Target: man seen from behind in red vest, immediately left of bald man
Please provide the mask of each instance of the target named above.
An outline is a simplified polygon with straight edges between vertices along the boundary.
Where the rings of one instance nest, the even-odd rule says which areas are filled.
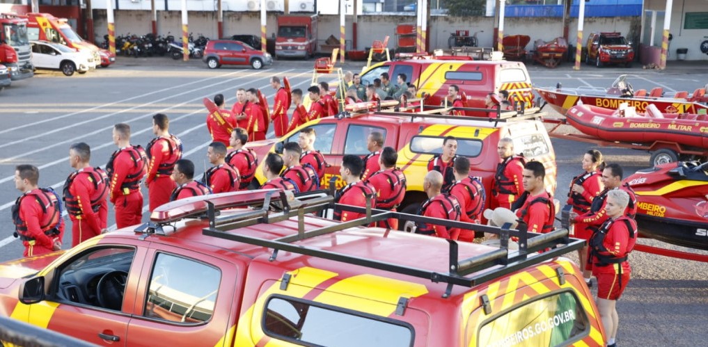
[[[392,147],[384,147],[379,155],[382,170],[370,175],[369,182],[376,189],[376,208],[395,212],[406,195],[406,175],[396,168],[398,153]],[[376,224],[379,228],[398,229],[398,218],[389,218]]]

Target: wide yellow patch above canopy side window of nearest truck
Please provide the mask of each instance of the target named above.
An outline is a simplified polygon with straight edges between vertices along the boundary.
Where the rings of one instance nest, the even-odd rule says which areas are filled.
[[[428,288],[420,283],[365,274],[334,283],[314,301],[388,317],[396,311],[399,298],[416,298],[427,293]]]

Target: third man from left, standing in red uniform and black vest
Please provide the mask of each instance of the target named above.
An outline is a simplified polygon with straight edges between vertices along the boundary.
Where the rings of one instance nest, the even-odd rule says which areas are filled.
[[[119,149],[110,156],[105,171],[110,180],[108,200],[113,204],[115,225],[120,229],[142,221],[140,180],[147,172],[147,155],[142,147],[130,145],[128,124],[113,126],[113,143]]]

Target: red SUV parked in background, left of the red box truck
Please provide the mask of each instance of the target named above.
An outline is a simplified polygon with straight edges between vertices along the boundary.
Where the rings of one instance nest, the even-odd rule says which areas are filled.
[[[251,65],[258,70],[264,65],[273,64],[273,57],[241,41],[211,40],[207,42],[202,61],[207,63],[209,69],[222,65]]]

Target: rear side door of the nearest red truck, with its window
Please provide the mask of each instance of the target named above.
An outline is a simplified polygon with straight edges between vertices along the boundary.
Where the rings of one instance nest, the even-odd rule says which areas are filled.
[[[181,247],[159,245],[145,257],[130,346],[217,346],[239,305],[236,264]]]

